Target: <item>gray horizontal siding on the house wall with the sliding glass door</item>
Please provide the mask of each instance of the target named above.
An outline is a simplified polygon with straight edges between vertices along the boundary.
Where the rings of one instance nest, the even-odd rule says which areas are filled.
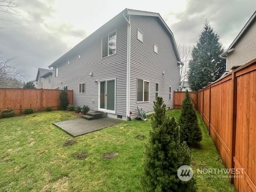
[[[92,44],[80,50],[80,59],[75,54],[70,58],[70,64],[67,61],[59,64],[59,76],[54,77],[53,88],[68,86],[68,90],[73,90],[75,105],[88,105],[91,110],[98,110],[98,83],[95,81],[116,78],[116,114],[126,115],[127,24],[116,25],[116,54],[101,58],[102,36],[95,37]],[[106,34],[115,29],[106,31]],[[79,94],[78,86],[83,82],[86,83],[86,93]]]

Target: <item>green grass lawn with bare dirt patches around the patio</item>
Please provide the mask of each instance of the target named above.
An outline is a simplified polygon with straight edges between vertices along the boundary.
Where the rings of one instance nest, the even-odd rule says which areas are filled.
[[[180,110],[168,110],[179,117]],[[74,119],[66,111],[52,111],[0,119],[0,191],[141,191],[140,174],[144,143],[150,122],[123,122],[110,128],[74,138],[52,122]],[[224,168],[200,116],[203,132],[200,149],[192,149],[192,168]],[[146,140],[138,140],[142,134]],[[87,151],[79,160],[74,152]],[[105,152],[119,152],[103,160]],[[198,191],[234,191],[228,178],[197,178]]]

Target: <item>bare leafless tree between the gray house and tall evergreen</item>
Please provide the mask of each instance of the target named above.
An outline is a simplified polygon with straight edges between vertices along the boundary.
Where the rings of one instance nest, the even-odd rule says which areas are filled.
[[[180,60],[183,63],[180,65],[180,87],[182,88],[188,76],[188,62],[190,60],[192,46],[178,43],[177,47],[180,54]]]

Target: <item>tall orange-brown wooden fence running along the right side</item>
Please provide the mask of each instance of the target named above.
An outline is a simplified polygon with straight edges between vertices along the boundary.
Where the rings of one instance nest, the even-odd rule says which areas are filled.
[[[225,166],[243,169],[236,190],[256,192],[256,59],[200,90],[197,105]]]

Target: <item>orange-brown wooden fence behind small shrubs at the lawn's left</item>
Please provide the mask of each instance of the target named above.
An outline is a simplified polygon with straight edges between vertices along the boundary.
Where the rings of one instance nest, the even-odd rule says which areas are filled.
[[[52,89],[10,89],[0,88],[0,112],[13,109],[14,113],[22,113],[26,108],[43,111],[46,107],[58,109],[61,90]],[[73,90],[67,90],[70,104],[73,103]]]

